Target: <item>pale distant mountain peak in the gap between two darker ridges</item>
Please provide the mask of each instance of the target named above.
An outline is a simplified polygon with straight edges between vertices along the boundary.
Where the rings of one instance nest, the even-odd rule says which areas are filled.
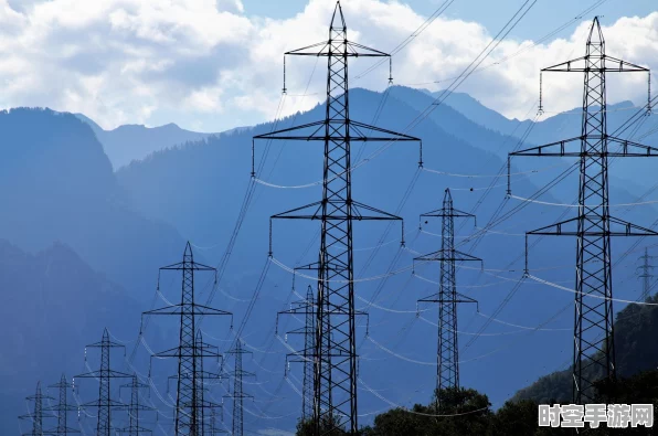
[[[82,114],[76,116],[92,127],[115,169],[132,160],[144,159],[153,151],[198,141],[213,135],[181,129],[173,123],[159,127],[123,125],[113,130],[104,130],[91,118]]]

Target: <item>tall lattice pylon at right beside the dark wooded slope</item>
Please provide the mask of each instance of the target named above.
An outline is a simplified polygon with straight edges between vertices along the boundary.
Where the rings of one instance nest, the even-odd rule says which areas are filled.
[[[608,208],[608,159],[656,157],[658,149],[608,136],[606,73],[648,73],[648,70],[605,54],[601,24],[598,18],[595,18],[587,38],[585,56],[543,68],[542,72],[584,73],[581,136],[512,152],[509,156],[580,159],[577,216],[528,232],[527,236],[576,236],[573,401],[584,404],[594,400],[594,384],[597,381],[611,381],[616,377],[611,236],[658,234],[611,216]],[[618,149],[613,151],[611,146],[618,146]],[[526,269],[528,270],[528,267]]]

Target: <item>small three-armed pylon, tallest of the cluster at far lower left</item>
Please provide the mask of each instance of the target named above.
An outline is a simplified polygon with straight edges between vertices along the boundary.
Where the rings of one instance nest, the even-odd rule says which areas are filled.
[[[85,364],[87,361],[87,348],[100,349],[100,369],[98,371],[87,372],[85,374],[76,375],[75,379],[96,379],[98,380],[98,398],[93,402],[83,404],[82,407],[96,407],[98,410],[98,421],[96,423],[97,436],[112,435],[112,411],[125,410],[126,404],[112,400],[110,397],[110,381],[112,379],[129,379],[131,375],[124,372],[115,371],[109,365],[110,350],[113,348],[125,347],[120,343],[110,341],[107,328],[103,330],[103,338],[100,342],[92,343],[85,348]]]

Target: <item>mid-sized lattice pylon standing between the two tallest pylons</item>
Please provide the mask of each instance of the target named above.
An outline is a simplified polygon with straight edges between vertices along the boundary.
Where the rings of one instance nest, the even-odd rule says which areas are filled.
[[[441,217],[441,249],[414,258],[415,262],[441,262],[438,293],[420,299],[418,302],[438,304],[438,347],[436,351],[436,408],[442,406],[442,390],[459,387],[459,350],[457,348],[457,304],[476,302],[473,298],[457,293],[456,262],[481,262],[480,258],[455,249],[455,219],[473,217],[453,206],[450,190],[446,189],[443,208],[427,212],[422,217]]]

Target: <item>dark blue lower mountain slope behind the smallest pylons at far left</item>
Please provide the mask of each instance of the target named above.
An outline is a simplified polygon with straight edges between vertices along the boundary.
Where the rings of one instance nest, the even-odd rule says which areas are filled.
[[[134,339],[141,307],[63,243],[29,254],[0,240],[0,328],[4,332],[0,336],[0,433],[14,435],[18,415],[26,413],[24,397],[34,394],[36,382],[41,381],[45,394],[45,387],[59,382],[62,373],[71,382],[74,375],[88,372],[85,345],[99,341],[106,327],[115,342],[117,338]],[[96,351],[88,351],[93,369],[97,369]],[[113,369],[126,371],[120,350],[113,352]],[[76,384],[83,402],[98,393],[93,379],[79,379]],[[57,395],[54,390],[49,393]],[[74,415],[70,418],[73,425]],[[49,419],[46,428],[54,424]],[[21,426],[28,432],[30,423]]]

